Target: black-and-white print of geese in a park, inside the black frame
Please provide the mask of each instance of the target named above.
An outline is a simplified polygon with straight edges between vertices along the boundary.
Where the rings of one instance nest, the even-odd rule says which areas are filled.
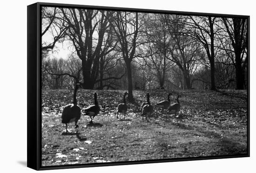
[[[246,157],[249,16],[41,6],[41,166]]]

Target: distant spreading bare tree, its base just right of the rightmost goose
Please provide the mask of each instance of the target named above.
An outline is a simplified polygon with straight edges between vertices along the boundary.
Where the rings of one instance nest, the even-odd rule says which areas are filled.
[[[202,59],[202,47],[193,39],[189,38],[186,29],[186,18],[179,15],[167,16],[168,32],[172,38],[170,44],[171,57],[182,71],[184,85],[186,89],[192,88],[191,77],[200,65]]]

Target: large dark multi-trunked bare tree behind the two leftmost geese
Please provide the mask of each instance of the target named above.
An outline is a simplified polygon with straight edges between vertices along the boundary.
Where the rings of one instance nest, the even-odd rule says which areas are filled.
[[[63,20],[69,25],[67,38],[73,43],[77,56],[81,59],[84,89],[93,89],[100,68],[102,45],[108,28],[111,12],[61,8]],[[112,77],[115,78],[115,77]],[[110,79],[108,77],[108,79]],[[104,79],[104,80],[108,80]]]

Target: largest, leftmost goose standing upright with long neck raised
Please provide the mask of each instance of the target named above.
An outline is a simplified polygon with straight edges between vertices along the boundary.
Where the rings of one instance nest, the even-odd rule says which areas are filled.
[[[66,105],[62,111],[61,122],[65,123],[66,125],[66,133],[68,132],[67,123],[74,122],[75,128],[78,128],[77,122],[81,117],[81,108],[77,105],[76,93],[77,93],[77,90],[81,88],[82,86],[80,83],[77,83],[75,85],[73,103]]]

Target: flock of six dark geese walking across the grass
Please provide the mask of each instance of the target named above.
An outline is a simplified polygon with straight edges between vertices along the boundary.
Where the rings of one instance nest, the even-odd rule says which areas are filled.
[[[81,108],[77,105],[77,100],[76,100],[76,93],[77,90],[82,89],[81,84],[77,83],[74,88],[74,98],[73,98],[73,103],[68,104],[64,107],[61,115],[62,123],[65,123],[66,125],[66,133],[68,132],[67,130],[67,124],[70,122],[75,123],[75,128],[78,128],[77,122],[81,118]],[[162,101],[159,102],[155,105],[156,108],[165,110],[167,109],[168,112],[176,114],[180,111],[181,105],[179,102],[179,97],[180,95],[177,96],[176,102],[171,104],[170,96],[172,94],[168,94],[168,100],[167,101]],[[128,110],[128,106],[126,103],[126,96],[128,96],[128,93],[125,92],[123,96],[123,103],[119,103],[117,106],[117,116],[116,118],[119,119],[118,114],[122,113],[125,119],[125,115]],[[141,104],[141,116],[142,120],[144,120],[144,117],[146,118],[147,122],[149,122],[149,117],[153,114],[154,112],[154,107],[150,103],[150,97],[149,93],[147,93],[147,102],[144,102]],[[90,105],[86,109],[83,109],[84,114],[83,115],[88,115],[91,119],[90,123],[93,123],[93,119],[96,115],[100,113],[100,106],[97,101],[97,93],[94,92],[94,105]]]

